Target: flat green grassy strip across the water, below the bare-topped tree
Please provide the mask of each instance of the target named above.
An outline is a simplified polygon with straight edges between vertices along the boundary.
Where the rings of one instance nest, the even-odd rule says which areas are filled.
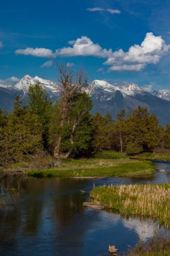
[[[28,171],[34,177],[114,177],[140,176],[154,173],[149,161],[130,160],[128,158],[90,158],[87,160],[63,160],[63,166],[57,168]]]

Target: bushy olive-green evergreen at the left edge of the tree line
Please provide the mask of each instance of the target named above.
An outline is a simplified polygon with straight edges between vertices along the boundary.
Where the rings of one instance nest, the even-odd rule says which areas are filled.
[[[21,103],[19,96],[16,96],[7,125],[0,127],[0,165],[18,159],[24,152],[42,150],[42,125],[38,116],[22,108]]]

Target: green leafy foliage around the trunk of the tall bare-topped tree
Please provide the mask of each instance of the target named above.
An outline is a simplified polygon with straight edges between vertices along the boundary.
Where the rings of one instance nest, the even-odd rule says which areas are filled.
[[[90,96],[86,93],[79,93],[72,98],[71,107],[67,110],[62,125],[61,105],[61,102],[56,102],[52,108],[49,137],[52,151],[56,146],[56,141],[60,138],[60,154],[64,152],[70,152],[72,156],[87,154],[92,138],[89,112],[93,104]]]

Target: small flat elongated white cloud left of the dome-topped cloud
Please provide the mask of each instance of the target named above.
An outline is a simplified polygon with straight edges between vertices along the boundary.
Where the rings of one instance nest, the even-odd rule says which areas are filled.
[[[35,57],[44,57],[44,58],[55,58],[55,54],[53,54],[52,50],[46,48],[27,48],[27,49],[18,49],[15,51],[15,54],[24,54],[24,55],[32,55]]]

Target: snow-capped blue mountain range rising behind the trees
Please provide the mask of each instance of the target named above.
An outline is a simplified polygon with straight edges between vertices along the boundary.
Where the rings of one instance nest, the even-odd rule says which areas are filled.
[[[13,85],[0,84],[0,108],[11,113],[13,110],[13,101],[16,95],[21,97],[24,102],[30,84],[40,84],[47,91],[47,95],[55,102],[60,98],[60,86],[51,80],[41,79],[36,76],[24,76],[19,82]],[[132,108],[147,107],[149,113],[157,115],[160,124],[163,126],[170,123],[170,93],[159,93],[154,91],[149,93],[143,90],[137,84],[127,84],[115,87],[103,80],[94,80],[87,84],[84,90],[90,94],[94,107],[92,113],[100,112],[106,115],[106,112],[116,115],[121,108],[126,108],[127,113]]]

